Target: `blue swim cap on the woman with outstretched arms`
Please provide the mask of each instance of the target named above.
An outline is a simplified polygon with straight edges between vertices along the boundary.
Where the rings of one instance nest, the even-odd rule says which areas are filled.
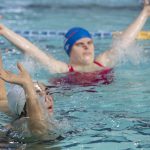
[[[64,40],[64,49],[68,55],[70,55],[71,48],[75,44],[76,41],[78,41],[81,38],[92,38],[91,34],[83,28],[80,27],[74,27],[71,28],[66,34],[65,34],[65,40]]]

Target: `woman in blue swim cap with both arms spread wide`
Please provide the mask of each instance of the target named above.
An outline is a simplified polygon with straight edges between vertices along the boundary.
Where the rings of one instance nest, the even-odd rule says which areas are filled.
[[[98,56],[94,56],[94,43],[91,34],[83,28],[71,28],[65,35],[64,49],[69,56],[69,63],[56,60],[33,45],[24,37],[0,25],[0,34],[17,46],[23,53],[36,58],[50,72],[95,72],[113,68],[117,64],[117,50],[127,49],[136,39],[150,16],[150,0],[144,0],[144,7],[135,21],[122,32],[119,42]]]

